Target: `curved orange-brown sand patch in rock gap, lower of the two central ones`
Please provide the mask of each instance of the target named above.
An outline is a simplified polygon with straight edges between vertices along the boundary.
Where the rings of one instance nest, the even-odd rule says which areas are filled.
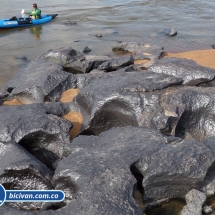
[[[68,114],[64,115],[63,118],[69,120],[74,125],[70,131],[70,136],[72,138],[78,136],[81,132],[83,116],[78,112],[70,111]]]

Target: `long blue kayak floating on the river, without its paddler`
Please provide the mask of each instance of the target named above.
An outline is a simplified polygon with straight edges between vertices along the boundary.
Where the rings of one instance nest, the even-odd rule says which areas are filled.
[[[24,27],[32,25],[40,25],[53,20],[58,14],[42,15],[41,19],[31,19],[31,18],[17,18],[14,19],[0,19],[0,28],[15,28]]]

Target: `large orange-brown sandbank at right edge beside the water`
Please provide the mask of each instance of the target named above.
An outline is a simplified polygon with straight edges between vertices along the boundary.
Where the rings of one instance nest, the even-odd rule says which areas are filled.
[[[195,50],[181,53],[166,52],[163,54],[163,57],[186,58],[189,60],[194,60],[197,64],[201,66],[206,66],[215,69],[215,49]]]

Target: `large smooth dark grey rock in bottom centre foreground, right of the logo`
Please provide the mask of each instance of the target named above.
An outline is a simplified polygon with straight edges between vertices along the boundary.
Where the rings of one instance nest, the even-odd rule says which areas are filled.
[[[75,138],[54,175],[55,186],[71,202],[55,214],[142,214],[132,196],[136,179],[130,169],[142,153],[163,145],[159,132],[141,127]]]

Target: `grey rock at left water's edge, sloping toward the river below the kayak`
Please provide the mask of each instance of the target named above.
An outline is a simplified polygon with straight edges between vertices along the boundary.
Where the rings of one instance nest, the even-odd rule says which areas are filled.
[[[60,65],[39,60],[17,72],[4,89],[10,93],[10,99],[30,104],[58,101],[63,91],[76,87],[75,82],[75,77],[63,71]]]

